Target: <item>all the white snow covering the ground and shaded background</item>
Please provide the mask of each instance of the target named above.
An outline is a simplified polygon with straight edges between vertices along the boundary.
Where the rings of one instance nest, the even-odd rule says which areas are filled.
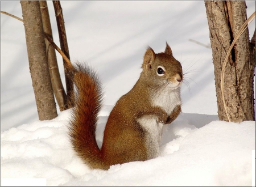
[[[246,5],[249,17],[255,1]],[[158,53],[167,41],[182,63],[187,73],[187,85],[181,87],[183,113],[164,126],[158,158],[113,165],[108,171],[89,169],[69,142],[70,110],[38,120],[23,23],[1,15],[2,185],[39,179],[36,185],[251,186],[254,181],[255,186],[255,121],[218,121],[211,50],[191,42],[210,43],[203,1],[61,1],[61,6],[71,59],[89,63],[104,85],[99,146],[113,105],[139,77],[148,45]],[[48,8],[59,45],[51,2]],[[1,1],[1,10],[22,18],[18,1]],[[254,29],[255,23],[249,25],[250,35]]]

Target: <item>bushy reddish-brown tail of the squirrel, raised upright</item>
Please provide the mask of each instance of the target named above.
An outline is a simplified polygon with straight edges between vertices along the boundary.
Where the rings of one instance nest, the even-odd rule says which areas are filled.
[[[102,161],[95,135],[102,103],[100,80],[92,69],[78,62],[69,66],[68,71],[75,88],[72,97],[75,106],[69,124],[72,146],[90,168],[108,168]]]

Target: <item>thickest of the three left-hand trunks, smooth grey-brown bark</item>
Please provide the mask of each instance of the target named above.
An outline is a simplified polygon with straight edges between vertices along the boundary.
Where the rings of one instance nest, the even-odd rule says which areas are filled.
[[[57,117],[57,110],[46,57],[39,1],[20,1],[20,4],[39,120],[51,120]]]

